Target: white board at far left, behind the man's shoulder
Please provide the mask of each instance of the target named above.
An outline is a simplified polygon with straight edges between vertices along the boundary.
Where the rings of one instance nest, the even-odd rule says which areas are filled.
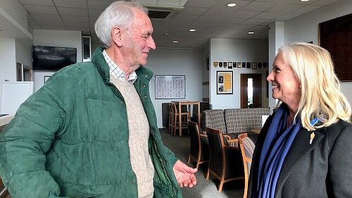
[[[3,82],[1,95],[1,114],[15,114],[22,104],[33,93],[33,82]]]

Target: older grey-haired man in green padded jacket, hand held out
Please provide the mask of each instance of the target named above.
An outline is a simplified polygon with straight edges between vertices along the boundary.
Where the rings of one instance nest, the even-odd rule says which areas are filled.
[[[149,97],[156,49],[146,8],[116,1],[95,24],[105,49],[55,73],[0,136],[12,197],[182,197],[194,173],[161,140]]]

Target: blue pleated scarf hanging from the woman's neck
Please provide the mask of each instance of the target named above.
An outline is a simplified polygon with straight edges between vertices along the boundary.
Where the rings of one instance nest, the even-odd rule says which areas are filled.
[[[294,137],[302,128],[301,120],[286,128],[288,115],[289,109],[282,104],[272,118],[268,135],[265,137],[263,149],[260,153],[258,182],[256,196],[254,197],[274,197],[275,195],[282,163],[294,141]]]

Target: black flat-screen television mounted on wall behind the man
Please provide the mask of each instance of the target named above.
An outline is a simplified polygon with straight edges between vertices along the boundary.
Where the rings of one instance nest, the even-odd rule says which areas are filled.
[[[60,70],[77,62],[77,49],[33,46],[33,70]]]

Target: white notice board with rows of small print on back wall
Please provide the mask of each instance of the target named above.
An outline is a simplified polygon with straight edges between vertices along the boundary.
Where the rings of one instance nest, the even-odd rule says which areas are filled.
[[[185,75],[155,75],[155,99],[185,98]]]

